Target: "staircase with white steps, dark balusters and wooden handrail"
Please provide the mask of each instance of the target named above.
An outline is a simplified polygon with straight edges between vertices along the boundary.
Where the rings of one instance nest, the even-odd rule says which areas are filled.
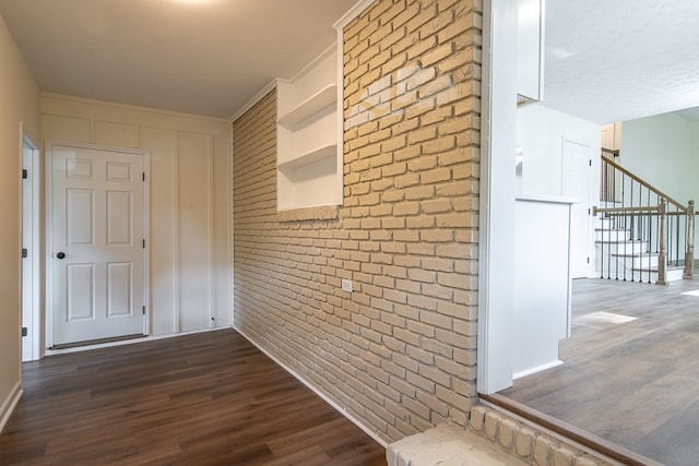
[[[667,265],[694,275],[695,203],[685,206],[616,162],[618,151],[603,150],[601,277],[667,283]],[[606,223],[605,223],[606,220]],[[655,262],[655,264],[653,264]]]

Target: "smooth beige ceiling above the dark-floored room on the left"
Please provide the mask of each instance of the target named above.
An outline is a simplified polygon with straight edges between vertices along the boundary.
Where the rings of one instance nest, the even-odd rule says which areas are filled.
[[[39,87],[228,118],[336,39],[356,0],[0,0]]]

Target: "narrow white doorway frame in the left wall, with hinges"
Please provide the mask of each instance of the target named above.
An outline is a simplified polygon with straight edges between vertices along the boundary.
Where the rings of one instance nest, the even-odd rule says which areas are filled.
[[[28,250],[28,255],[22,259],[22,323],[27,323],[27,336],[31,338],[28,351],[24,350],[23,342],[22,361],[34,361],[40,359],[42,354],[42,249],[40,249],[40,152],[34,141],[24,133],[22,128],[22,168],[27,170],[27,178],[22,183],[28,184],[32,193],[31,199],[25,200],[22,195],[22,248]],[[25,157],[24,150],[31,151]],[[22,187],[24,191],[24,186]],[[29,241],[24,241],[25,229],[29,228]],[[28,267],[28,274],[24,268]],[[26,283],[28,280],[28,283]],[[28,291],[29,296],[25,295]]]

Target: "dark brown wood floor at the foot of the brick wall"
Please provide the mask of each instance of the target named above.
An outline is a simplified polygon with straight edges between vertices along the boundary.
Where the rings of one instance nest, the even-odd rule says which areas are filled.
[[[233,330],[24,366],[0,465],[386,465],[381,445]]]

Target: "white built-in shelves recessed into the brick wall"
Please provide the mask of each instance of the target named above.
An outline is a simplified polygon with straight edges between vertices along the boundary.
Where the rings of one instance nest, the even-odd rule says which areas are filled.
[[[337,49],[276,82],[279,211],[342,204]]]

